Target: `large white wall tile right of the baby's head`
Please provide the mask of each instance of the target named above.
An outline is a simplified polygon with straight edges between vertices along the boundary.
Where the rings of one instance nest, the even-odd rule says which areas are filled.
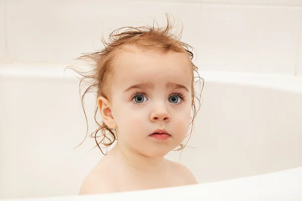
[[[302,10],[204,5],[203,70],[294,74]]]

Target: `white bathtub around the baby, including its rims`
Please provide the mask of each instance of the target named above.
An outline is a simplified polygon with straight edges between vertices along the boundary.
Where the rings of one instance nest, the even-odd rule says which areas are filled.
[[[63,73],[64,67],[0,65],[0,199],[86,200],[77,196],[82,179],[102,153],[97,148],[88,153],[95,146],[91,138],[72,149],[84,139],[86,122],[79,80],[71,71]],[[202,184],[155,191],[173,191],[178,197],[203,191],[199,198],[208,200],[248,192],[302,199],[297,188],[302,189],[302,78],[202,71],[200,75],[205,79],[203,104],[189,142],[195,148],[185,148],[181,162]],[[94,104],[88,96],[91,124]],[[178,152],[167,158],[179,162]]]

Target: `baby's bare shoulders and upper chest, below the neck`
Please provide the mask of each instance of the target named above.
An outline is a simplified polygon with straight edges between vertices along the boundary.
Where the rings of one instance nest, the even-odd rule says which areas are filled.
[[[118,145],[117,145],[118,146]],[[154,168],[129,161],[115,146],[84,179],[80,194],[100,194],[197,184],[185,166],[159,159]],[[133,163],[132,163],[133,162]]]

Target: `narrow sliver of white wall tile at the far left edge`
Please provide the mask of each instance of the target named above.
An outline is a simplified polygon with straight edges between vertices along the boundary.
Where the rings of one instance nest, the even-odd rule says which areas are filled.
[[[0,0],[0,62],[5,61],[6,59],[4,1],[5,0]]]

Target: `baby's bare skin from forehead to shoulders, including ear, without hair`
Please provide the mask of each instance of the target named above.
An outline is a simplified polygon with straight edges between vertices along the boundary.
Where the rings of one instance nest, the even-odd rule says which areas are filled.
[[[185,166],[164,158],[185,139],[192,107],[188,55],[128,47],[114,60],[112,98],[98,97],[118,141],[83,181],[80,194],[196,184]],[[151,137],[164,129],[170,137]]]

